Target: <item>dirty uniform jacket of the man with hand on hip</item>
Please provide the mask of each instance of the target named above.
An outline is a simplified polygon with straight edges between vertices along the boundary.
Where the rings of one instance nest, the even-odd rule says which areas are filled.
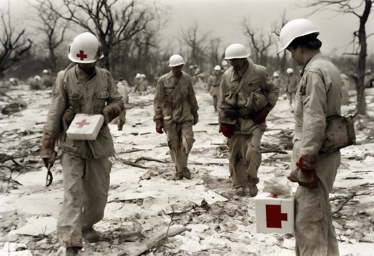
[[[237,94],[237,107],[236,110],[246,109],[246,103],[251,92],[263,92],[266,97],[267,103],[272,107],[275,106],[279,97],[279,88],[276,86],[272,79],[267,76],[266,68],[261,65],[256,65],[250,58],[247,58],[248,67],[243,70],[242,78],[239,82],[238,72],[235,73],[232,67],[225,71],[220,85],[220,103],[221,106],[226,104],[227,96],[230,92],[234,92],[236,88],[243,83],[242,88]],[[240,72],[241,73],[241,72]],[[270,111],[271,109],[269,109]],[[255,124],[251,118],[240,117],[237,119],[236,124],[232,128],[233,134],[250,134],[251,131],[259,127],[261,130],[266,130],[266,121],[261,124]]]

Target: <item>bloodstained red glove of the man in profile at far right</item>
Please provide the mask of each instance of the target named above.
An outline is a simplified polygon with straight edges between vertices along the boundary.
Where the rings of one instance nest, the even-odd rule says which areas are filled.
[[[316,161],[317,156],[314,155],[303,155],[296,163],[297,170],[291,172],[288,177],[292,182],[299,183],[300,186],[308,186],[316,188]]]

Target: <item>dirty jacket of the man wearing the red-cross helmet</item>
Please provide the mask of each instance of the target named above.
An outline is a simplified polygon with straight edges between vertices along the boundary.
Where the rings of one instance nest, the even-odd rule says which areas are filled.
[[[78,64],[58,73],[52,91],[52,100],[44,126],[44,133],[56,138],[59,134],[58,147],[62,152],[85,159],[99,159],[114,155],[113,139],[108,125],[104,125],[95,140],[71,140],[62,129],[62,115],[68,108],[76,114],[101,114],[106,105],[116,107],[119,113],[125,108],[122,95],[117,91],[116,83],[104,68],[95,66],[95,76],[89,80]],[[48,157],[42,150],[42,158]]]

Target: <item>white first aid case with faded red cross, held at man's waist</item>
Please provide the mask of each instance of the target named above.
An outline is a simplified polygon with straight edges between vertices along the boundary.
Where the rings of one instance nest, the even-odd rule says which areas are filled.
[[[66,134],[71,140],[95,140],[102,124],[102,115],[76,114]]]

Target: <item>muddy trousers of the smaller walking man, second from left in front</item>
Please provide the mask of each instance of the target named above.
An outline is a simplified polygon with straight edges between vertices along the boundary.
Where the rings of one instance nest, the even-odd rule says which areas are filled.
[[[166,130],[166,135],[171,159],[177,167],[177,173],[181,173],[187,167],[188,154],[195,139],[191,122],[175,125],[173,128]]]

